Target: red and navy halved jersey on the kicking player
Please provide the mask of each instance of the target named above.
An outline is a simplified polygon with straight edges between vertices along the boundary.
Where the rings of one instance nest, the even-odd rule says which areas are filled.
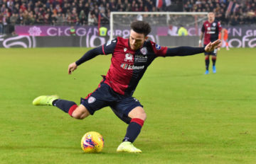
[[[112,54],[112,59],[105,83],[121,95],[132,95],[147,67],[156,57],[165,57],[167,49],[150,40],[136,51],[129,47],[129,39],[117,37],[107,42],[102,52]]]

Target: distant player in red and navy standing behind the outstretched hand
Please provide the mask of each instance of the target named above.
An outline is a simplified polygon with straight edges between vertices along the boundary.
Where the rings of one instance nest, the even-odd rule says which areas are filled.
[[[218,40],[218,35],[221,33],[221,25],[220,22],[215,20],[215,14],[213,12],[208,13],[208,21],[205,21],[203,23],[203,27],[201,28],[201,35],[199,39],[199,47],[202,46],[202,40],[203,40],[203,46],[206,47],[209,42],[214,42],[215,40]],[[204,35],[204,39],[203,39]],[[223,38],[223,33],[222,37]],[[217,49],[214,49],[213,52],[205,52],[205,61],[206,61],[206,74],[209,74],[209,64],[210,59],[209,55],[212,55],[212,61],[213,61],[213,73],[216,73],[216,59],[217,59]]]

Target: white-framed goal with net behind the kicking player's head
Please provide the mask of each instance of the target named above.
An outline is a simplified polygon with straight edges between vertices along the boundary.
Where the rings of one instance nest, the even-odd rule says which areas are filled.
[[[151,25],[149,39],[158,44],[160,44],[160,37],[175,36],[176,38],[183,35],[197,36],[198,44],[198,35],[206,20],[206,12],[111,12],[110,40],[118,36],[128,38],[130,24],[133,21],[146,21]],[[187,34],[178,33],[181,27],[186,28]]]

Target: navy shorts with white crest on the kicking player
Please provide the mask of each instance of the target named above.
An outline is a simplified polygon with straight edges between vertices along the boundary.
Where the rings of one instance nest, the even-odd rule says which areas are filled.
[[[87,108],[90,115],[93,115],[95,111],[103,107],[110,106],[114,114],[127,124],[131,121],[131,118],[128,117],[129,112],[134,107],[143,107],[139,100],[132,96],[124,96],[114,92],[104,81],[85,99],[81,98],[81,104]]]

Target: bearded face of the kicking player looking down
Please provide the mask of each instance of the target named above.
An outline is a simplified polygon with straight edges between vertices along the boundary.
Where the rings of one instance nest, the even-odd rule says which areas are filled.
[[[141,48],[147,37],[144,34],[136,33],[134,30],[131,30],[129,36],[129,44],[132,50],[137,50]]]

